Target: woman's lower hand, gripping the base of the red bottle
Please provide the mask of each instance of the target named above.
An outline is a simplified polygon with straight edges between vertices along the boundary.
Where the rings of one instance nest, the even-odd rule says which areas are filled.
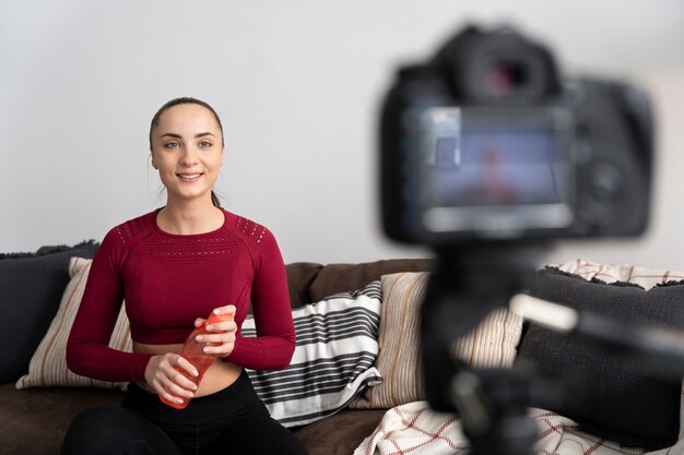
[[[154,392],[173,403],[182,403],[179,397],[192,398],[197,385],[186,378],[180,371],[187,371],[188,375],[199,374],[197,369],[187,359],[178,354],[167,352],[153,356],[145,368],[145,381]]]

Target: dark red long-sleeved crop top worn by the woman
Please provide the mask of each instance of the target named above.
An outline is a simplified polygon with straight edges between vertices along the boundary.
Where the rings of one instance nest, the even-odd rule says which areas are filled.
[[[102,381],[144,381],[152,357],[107,346],[121,301],[134,342],[184,343],[197,318],[235,304],[237,338],[225,358],[252,370],[285,368],[295,347],[287,278],[278,243],[263,226],[223,211],[212,232],[162,231],[157,211],[123,223],[103,240],[67,347],[76,374]],[[256,338],[240,336],[249,312]]]

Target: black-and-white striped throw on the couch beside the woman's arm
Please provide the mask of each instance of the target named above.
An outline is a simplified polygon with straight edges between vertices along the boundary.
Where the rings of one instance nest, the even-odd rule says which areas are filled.
[[[271,417],[285,427],[311,423],[382,380],[374,367],[381,301],[376,280],[293,311],[297,344],[290,366],[247,370]],[[245,321],[243,335],[257,335],[253,319]]]

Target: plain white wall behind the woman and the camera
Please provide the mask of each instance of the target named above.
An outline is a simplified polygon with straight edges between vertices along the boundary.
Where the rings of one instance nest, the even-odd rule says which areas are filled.
[[[378,101],[398,63],[473,20],[518,25],[566,70],[626,75],[657,103],[649,236],[554,258],[684,268],[681,0],[0,0],[0,251],[99,239],[161,205],[149,121],[189,95],[224,121],[225,206],[269,226],[286,262],[423,255],[378,228]]]

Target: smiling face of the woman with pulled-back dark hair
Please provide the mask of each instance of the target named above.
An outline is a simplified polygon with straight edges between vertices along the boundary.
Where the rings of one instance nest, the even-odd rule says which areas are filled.
[[[211,199],[223,165],[223,136],[213,113],[181,104],[167,109],[152,132],[152,166],[169,201]]]

